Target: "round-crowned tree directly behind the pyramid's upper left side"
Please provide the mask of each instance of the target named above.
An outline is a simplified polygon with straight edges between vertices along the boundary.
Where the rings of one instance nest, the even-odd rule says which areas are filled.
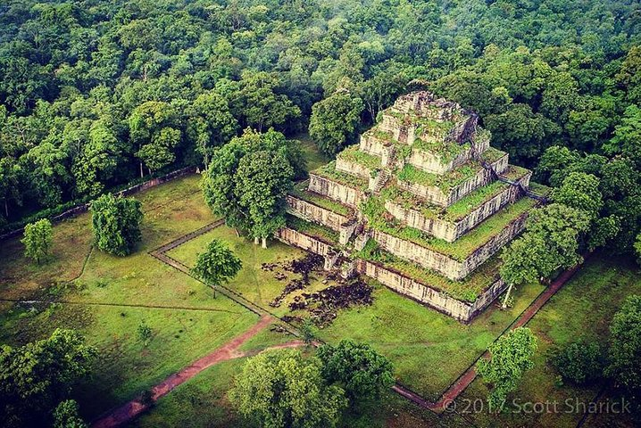
[[[321,152],[334,156],[354,141],[363,108],[361,98],[345,89],[313,105],[309,132]]]

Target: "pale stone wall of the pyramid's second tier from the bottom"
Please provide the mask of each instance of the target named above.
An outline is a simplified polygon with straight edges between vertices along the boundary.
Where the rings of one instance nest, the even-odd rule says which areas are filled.
[[[497,235],[473,251],[470,256],[462,261],[455,260],[440,252],[429,250],[417,243],[412,243],[379,230],[372,231],[372,237],[379,243],[380,247],[391,252],[397,257],[410,260],[420,264],[424,268],[437,271],[453,281],[459,281],[478,268],[483,262],[492,257],[506,243],[519,235],[525,227],[525,220],[528,214],[525,213],[516,218]]]

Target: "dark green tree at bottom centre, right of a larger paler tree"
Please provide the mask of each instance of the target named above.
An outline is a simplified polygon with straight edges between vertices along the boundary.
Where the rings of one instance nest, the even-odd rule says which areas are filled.
[[[367,343],[343,340],[337,346],[323,345],[318,350],[322,374],[338,382],[354,401],[378,399],[380,392],[394,384],[394,367]]]

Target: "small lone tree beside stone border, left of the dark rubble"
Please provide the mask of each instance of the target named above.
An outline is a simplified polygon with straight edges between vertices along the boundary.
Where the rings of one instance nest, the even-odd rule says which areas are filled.
[[[198,254],[192,272],[206,284],[218,286],[236,276],[242,267],[242,261],[234,252],[225,243],[214,239],[204,252]]]

